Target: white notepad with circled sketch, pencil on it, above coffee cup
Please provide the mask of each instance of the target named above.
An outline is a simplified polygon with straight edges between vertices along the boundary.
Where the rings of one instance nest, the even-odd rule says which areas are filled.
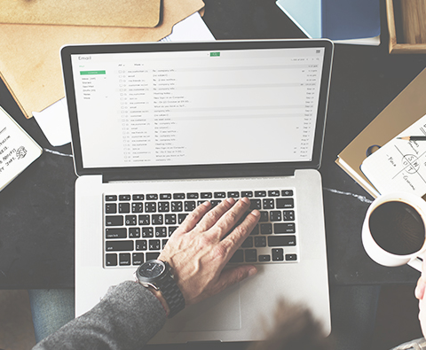
[[[400,140],[426,136],[426,115],[384,144],[361,164],[361,171],[380,194],[406,191],[426,194],[426,141]]]

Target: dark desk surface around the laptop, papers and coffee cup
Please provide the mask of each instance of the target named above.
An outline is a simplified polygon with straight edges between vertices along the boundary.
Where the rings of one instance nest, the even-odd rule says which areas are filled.
[[[304,37],[275,0],[205,4],[204,20],[217,40]],[[337,154],[426,66],[425,55],[389,55],[385,26],[383,16],[378,47],[335,45],[320,169],[331,284],[400,284],[418,278],[412,268],[383,268],[367,257],[360,230],[368,204],[357,196],[371,197],[335,165]],[[0,192],[0,289],[72,288],[75,173],[70,146],[52,147],[36,121],[25,120],[3,84],[0,105],[45,149]]]

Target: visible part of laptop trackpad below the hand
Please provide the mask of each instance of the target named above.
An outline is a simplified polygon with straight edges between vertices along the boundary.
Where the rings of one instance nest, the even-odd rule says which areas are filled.
[[[231,331],[241,329],[240,286],[186,307],[166,323],[167,331]]]

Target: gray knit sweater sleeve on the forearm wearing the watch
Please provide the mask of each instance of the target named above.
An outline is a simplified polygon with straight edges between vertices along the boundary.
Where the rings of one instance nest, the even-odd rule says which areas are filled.
[[[91,311],[43,339],[33,350],[140,350],[165,322],[166,313],[154,294],[127,281],[111,287]]]

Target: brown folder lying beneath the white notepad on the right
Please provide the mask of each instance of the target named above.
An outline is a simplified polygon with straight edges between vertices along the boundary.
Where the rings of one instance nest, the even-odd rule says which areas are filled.
[[[335,160],[374,198],[377,197],[378,191],[359,168],[367,158],[367,149],[375,144],[383,146],[426,114],[424,91],[426,91],[426,69],[423,69]]]

